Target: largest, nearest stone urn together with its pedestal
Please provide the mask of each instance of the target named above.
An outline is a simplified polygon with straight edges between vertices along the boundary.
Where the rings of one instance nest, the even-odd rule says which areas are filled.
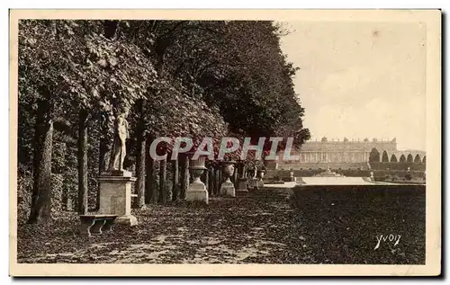
[[[206,185],[202,183],[200,177],[207,169],[205,166],[206,156],[199,156],[193,159],[193,153],[186,154],[189,158],[189,171],[193,177],[193,182],[189,184],[186,191],[187,201],[202,201],[208,204],[208,191]]]

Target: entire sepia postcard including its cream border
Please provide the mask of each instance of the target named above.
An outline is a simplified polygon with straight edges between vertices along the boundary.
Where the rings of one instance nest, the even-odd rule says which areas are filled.
[[[438,275],[440,10],[10,10],[13,276]]]

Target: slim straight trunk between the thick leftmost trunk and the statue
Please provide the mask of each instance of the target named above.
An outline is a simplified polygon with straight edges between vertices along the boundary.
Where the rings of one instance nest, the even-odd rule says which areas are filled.
[[[87,213],[87,111],[78,113],[78,214]]]

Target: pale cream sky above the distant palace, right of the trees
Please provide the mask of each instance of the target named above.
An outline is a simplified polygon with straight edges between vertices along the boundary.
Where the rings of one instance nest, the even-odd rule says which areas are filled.
[[[419,22],[284,22],[282,50],[311,139],[397,138],[426,150],[426,27]]]

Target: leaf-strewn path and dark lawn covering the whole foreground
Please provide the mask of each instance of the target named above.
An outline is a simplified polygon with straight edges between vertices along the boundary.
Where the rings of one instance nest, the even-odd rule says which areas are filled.
[[[386,194],[387,193],[387,194]],[[78,236],[75,213],[19,225],[19,263],[424,263],[425,191],[260,190],[134,211],[137,227]],[[401,235],[398,245],[379,235]]]

